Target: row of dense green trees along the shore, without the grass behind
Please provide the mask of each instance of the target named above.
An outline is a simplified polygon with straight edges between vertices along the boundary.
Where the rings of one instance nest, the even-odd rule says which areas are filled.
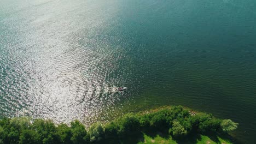
[[[79,121],[68,126],[28,117],[3,118],[0,120],[0,144],[107,143],[153,130],[168,131],[173,139],[181,139],[191,133],[226,133],[235,130],[237,125],[230,119],[222,120],[206,113],[191,116],[182,106],[145,114],[129,113],[104,125],[94,123],[88,130]]]

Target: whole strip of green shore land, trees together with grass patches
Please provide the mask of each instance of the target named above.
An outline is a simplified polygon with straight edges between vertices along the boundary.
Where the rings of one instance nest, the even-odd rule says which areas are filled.
[[[88,129],[75,120],[70,125],[30,117],[2,118],[2,143],[239,143],[228,132],[238,123],[183,106],[127,113]]]

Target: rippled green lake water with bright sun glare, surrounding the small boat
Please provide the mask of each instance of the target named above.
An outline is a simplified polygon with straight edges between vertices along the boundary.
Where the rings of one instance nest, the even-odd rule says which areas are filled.
[[[91,123],[185,105],[254,143],[255,18],[252,0],[0,0],[0,116]]]

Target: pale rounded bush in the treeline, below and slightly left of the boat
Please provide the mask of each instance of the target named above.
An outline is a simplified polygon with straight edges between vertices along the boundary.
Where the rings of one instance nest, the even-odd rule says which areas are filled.
[[[88,134],[91,142],[100,141],[104,139],[104,129],[101,123],[94,123],[91,125]]]

